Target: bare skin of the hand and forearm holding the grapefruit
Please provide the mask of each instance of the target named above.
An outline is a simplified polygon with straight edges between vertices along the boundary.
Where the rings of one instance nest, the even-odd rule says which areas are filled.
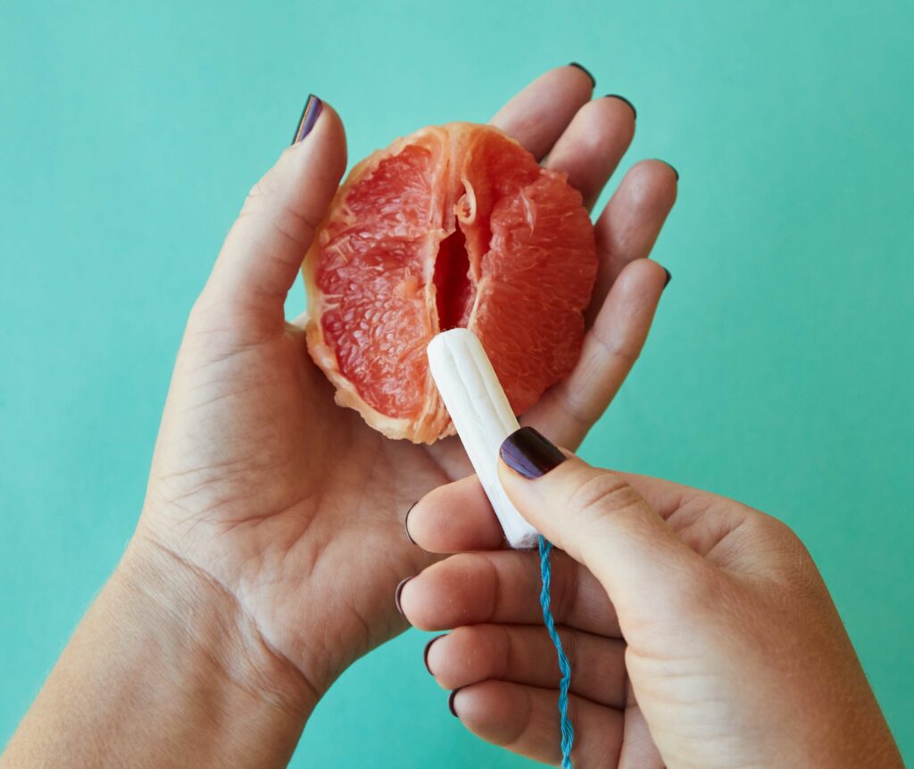
[[[634,132],[591,90],[556,68],[493,118],[589,205]],[[325,105],[250,191],[190,312],[133,539],[0,765],[283,766],[340,673],[408,627],[394,588],[439,556],[409,542],[406,512],[466,458],[336,407],[282,311],[345,164]],[[526,415],[564,445],[642,349],[665,283],[646,257],[675,191],[665,163],[637,163],[600,214],[580,363]]]

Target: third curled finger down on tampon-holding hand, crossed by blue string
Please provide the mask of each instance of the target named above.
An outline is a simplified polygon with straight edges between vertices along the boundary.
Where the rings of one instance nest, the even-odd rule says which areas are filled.
[[[558,628],[574,675],[571,692],[611,708],[625,707],[625,644],[570,627]],[[431,675],[444,689],[462,689],[499,679],[556,689],[561,672],[545,627],[469,625],[433,639],[425,655]]]

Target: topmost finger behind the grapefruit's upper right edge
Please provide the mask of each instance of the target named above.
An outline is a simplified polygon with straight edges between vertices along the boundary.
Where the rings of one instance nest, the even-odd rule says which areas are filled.
[[[517,93],[490,122],[542,160],[592,91],[593,80],[582,69],[571,65],[550,69]]]

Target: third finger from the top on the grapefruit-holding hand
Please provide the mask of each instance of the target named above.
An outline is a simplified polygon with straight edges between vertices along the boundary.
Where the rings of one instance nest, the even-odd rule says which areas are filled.
[[[676,200],[678,175],[661,160],[636,163],[603,209],[595,225],[600,267],[590,300],[588,322],[625,265],[646,258]]]

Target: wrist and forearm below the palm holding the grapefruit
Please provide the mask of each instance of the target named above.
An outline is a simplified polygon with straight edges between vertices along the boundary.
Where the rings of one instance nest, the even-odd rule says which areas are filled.
[[[231,596],[138,536],[3,765],[51,765],[64,755],[72,766],[278,769],[316,699]]]

